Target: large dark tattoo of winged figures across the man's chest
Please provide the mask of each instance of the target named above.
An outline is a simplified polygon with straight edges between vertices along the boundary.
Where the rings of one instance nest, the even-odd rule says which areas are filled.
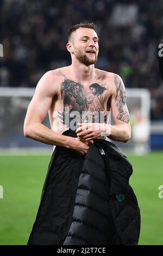
[[[92,83],[89,87],[84,87],[82,84],[77,83],[73,80],[66,79],[61,83],[61,98],[64,103],[64,107],[68,108],[68,112],[58,112],[62,123],[64,123],[65,115],[69,115],[76,111],[83,118],[82,112],[104,112],[104,103],[108,97],[108,90],[99,85],[98,83]],[[89,121],[87,115],[85,114],[85,121]],[[90,120],[92,114],[90,116]],[[71,118],[70,118],[71,120]],[[106,115],[104,114],[104,120],[106,121]],[[78,122],[80,123],[80,117]],[[96,117],[93,117],[92,122],[99,123]]]

